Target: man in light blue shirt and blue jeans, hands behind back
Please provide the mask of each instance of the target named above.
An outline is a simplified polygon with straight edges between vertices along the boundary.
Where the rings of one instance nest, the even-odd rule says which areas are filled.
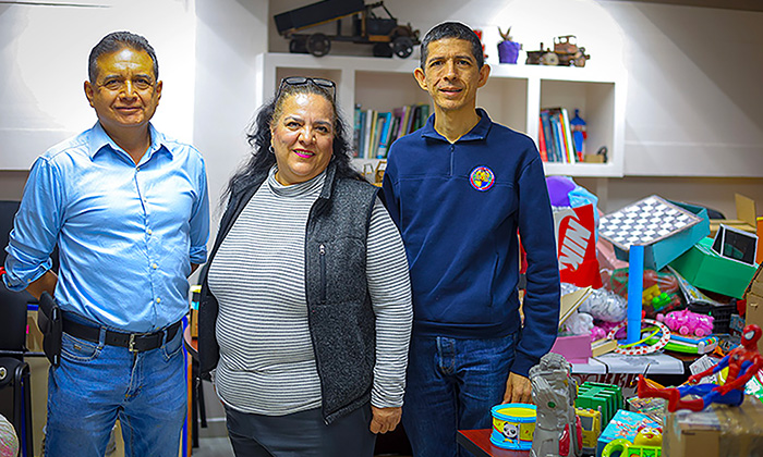
[[[3,277],[38,298],[48,292],[63,310],[46,455],[102,457],[119,417],[126,456],[177,457],[186,410],[180,320],[186,277],[207,255],[204,160],[149,123],[162,83],[145,38],[107,35],[88,71],[98,122],[33,165]]]

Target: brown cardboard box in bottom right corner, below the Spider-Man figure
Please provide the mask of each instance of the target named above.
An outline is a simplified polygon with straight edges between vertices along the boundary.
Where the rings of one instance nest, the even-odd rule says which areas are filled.
[[[739,407],[714,404],[700,412],[669,412],[665,422],[663,455],[763,455],[763,403],[752,397],[748,396]]]

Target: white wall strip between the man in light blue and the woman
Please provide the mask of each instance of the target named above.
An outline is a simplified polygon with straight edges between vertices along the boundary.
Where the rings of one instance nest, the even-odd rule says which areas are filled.
[[[213,236],[228,178],[250,151],[246,127],[261,104],[254,58],[267,51],[265,0],[196,0],[194,145],[206,160]]]

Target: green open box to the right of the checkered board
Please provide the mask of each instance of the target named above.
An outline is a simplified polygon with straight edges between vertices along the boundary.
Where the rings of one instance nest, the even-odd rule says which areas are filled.
[[[704,288],[729,297],[742,298],[755,267],[715,252],[713,238],[703,238],[687,252],[670,262],[694,287]]]

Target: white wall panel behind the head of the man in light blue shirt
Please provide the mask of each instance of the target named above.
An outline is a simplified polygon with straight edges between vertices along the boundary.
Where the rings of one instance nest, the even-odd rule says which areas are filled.
[[[85,0],[0,4],[0,169],[28,170],[50,146],[93,125],[83,82],[106,34],[145,36],[165,82],[154,124],[193,138],[193,0]],[[171,17],[171,21],[167,18]]]

